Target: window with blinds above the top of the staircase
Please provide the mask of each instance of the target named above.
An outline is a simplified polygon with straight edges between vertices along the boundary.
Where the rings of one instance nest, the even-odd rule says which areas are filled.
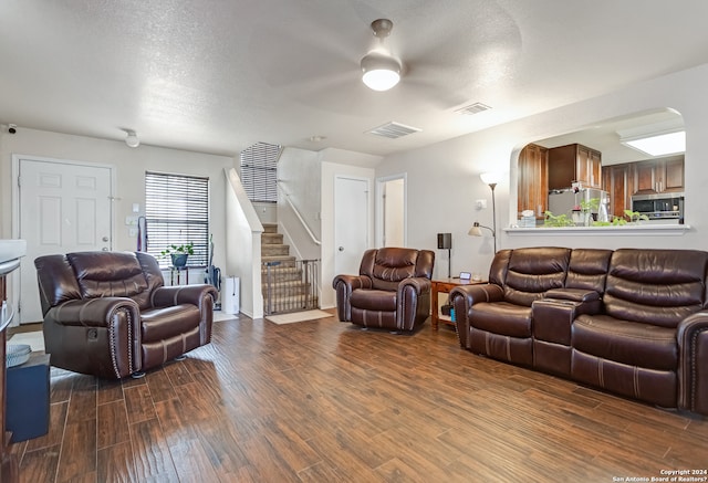
[[[257,143],[241,153],[241,183],[253,202],[278,202],[278,158],[282,146]]]

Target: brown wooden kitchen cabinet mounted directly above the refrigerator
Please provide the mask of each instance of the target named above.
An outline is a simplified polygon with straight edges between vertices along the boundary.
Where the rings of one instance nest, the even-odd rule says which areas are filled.
[[[549,149],[549,189],[566,189],[573,182],[602,188],[602,154],[580,144]]]

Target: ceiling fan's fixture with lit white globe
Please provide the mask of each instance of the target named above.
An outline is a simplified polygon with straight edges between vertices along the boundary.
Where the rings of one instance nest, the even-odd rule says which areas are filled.
[[[388,91],[400,81],[400,61],[384,48],[384,39],[391,34],[394,23],[388,19],[372,22],[374,35],[381,44],[362,57],[362,81],[374,91]]]

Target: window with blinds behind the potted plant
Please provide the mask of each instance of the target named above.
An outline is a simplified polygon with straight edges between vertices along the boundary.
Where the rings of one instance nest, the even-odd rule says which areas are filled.
[[[207,266],[209,259],[209,178],[145,172],[145,224],[147,253],[160,266],[169,245],[194,243],[187,266]]]

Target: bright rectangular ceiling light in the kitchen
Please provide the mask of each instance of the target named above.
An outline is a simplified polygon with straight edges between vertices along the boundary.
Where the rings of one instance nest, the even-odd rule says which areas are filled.
[[[667,156],[686,151],[686,132],[680,120],[618,130],[617,134],[620,143],[649,156]]]

